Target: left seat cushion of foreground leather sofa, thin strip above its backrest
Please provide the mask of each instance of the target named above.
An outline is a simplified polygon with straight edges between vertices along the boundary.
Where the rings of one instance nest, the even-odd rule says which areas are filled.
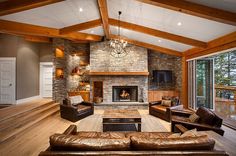
[[[110,138],[121,139],[125,138],[125,133],[122,132],[78,132],[76,135],[85,138]]]

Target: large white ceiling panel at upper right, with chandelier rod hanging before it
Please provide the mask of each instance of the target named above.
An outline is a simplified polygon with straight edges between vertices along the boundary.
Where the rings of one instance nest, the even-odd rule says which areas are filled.
[[[236,31],[236,27],[161,7],[145,4],[136,0],[108,0],[109,17],[143,25],[146,27],[182,35],[185,37],[210,41]],[[178,26],[177,23],[182,25]]]

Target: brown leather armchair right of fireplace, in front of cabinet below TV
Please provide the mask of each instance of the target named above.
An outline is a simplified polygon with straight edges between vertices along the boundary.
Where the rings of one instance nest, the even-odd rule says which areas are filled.
[[[181,108],[183,108],[183,106],[180,105],[179,101],[175,103],[171,102],[171,106],[165,106],[162,105],[162,100],[160,100],[149,103],[149,114],[170,122],[170,110]]]

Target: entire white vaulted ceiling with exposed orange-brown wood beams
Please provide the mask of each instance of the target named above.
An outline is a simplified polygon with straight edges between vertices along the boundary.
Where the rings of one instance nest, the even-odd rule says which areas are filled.
[[[100,41],[117,37],[118,11],[123,39],[163,53],[212,49],[226,44],[222,36],[235,42],[235,0],[8,0],[0,32]]]

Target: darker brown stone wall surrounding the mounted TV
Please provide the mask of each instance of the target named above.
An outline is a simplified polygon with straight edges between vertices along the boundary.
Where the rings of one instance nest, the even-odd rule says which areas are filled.
[[[181,57],[148,51],[149,90],[178,90],[182,87]],[[153,82],[153,70],[171,70],[173,84],[158,86]]]

